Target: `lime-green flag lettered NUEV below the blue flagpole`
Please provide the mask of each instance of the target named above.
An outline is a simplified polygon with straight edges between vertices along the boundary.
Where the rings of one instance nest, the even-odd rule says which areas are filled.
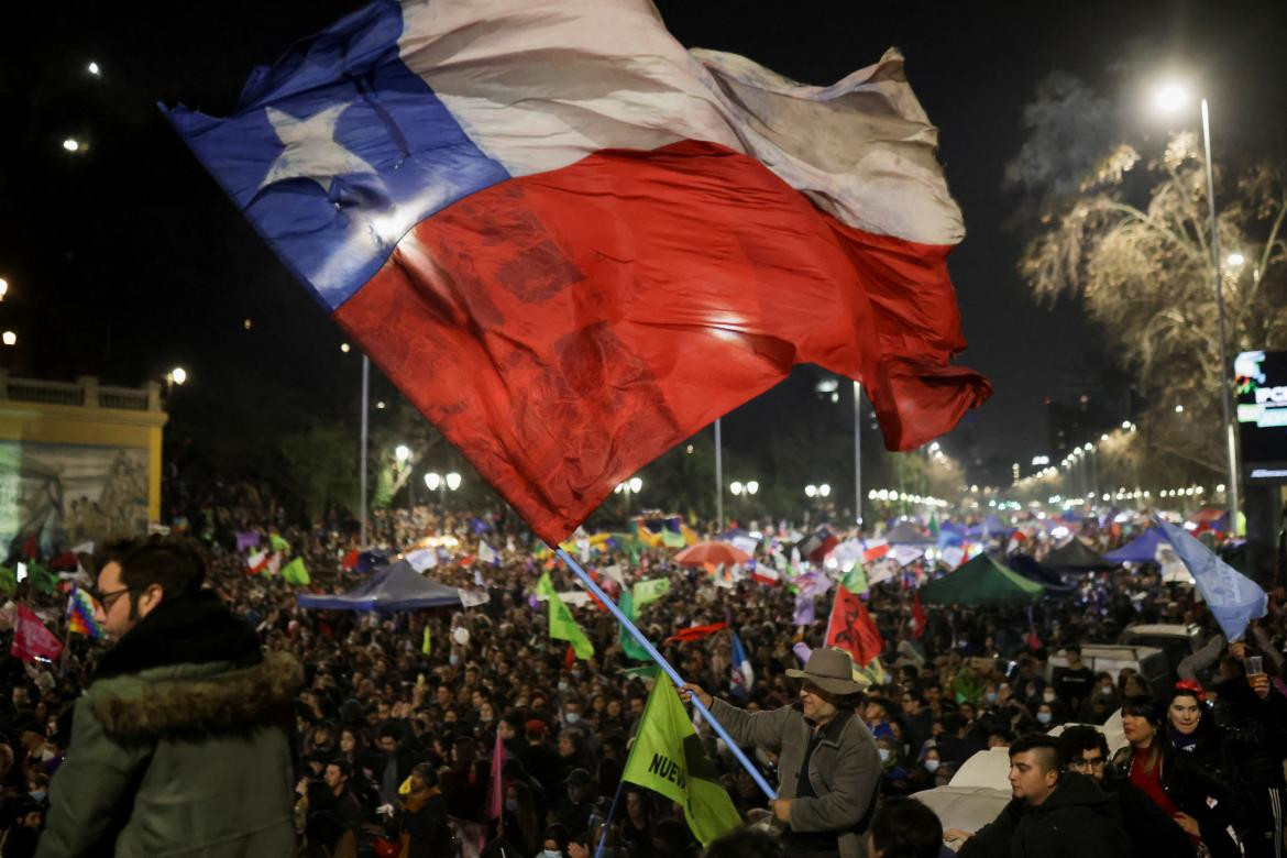
[[[669,682],[659,680],[647,696],[622,780],[678,803],[703,846],[741,826],[741,817],[719,786],[719,773],[703,751],[680,693]]]

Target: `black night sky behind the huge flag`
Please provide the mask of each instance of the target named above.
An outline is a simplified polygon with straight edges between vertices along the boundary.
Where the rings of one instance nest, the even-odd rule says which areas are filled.
[[[255,64],[359,3],[23,4],[0,39],[0,325],[19,334],[12,373],[97,374],[139,385],[183,364],[193,383],[346,413],[356,354],[281,268],[156,108],[228,112]],[[1287,4],[1278,3],[714,3],[659,4],[685,45],[745,54],[784,75],[831,84],[896,45],[965,212],[951,256],[969,350],[992,400],[946,440],[949,452],[1042,453],[1044,397],[1098,396],[1112,368],[1076,305],[1033,304],[1014,273],[1026,237],[1004,190],[1024,139],[1021,117],[1055,69],[1152,120],[1144,69],[1176,68],[1210,98],[1216,160],[1287,156]],[[97,62],[102,76],[86,71]],[[1138,109],[1135,109],[1138,108]],[[1194,109],[1196,121],[1196,109]],[[1120,129],[1088,129],[1113,139]],[[1140,129],[1135,134],[1151,134]],[[68,153],[62,140],[84,140]],[[247,331],[245,320],[251,319]],[[807,390],[812,370],[792,385]],[[775,408],[754,414],[764,436]],[[1125,415],[1124,415],[1125,417]],[[737,441],[736,417],[732,443]],[[786,417],[779,419],[788,419]],[[210,415],[218,424],[218,414]],[[770,434],[771,434],[771,426]],[[212,430],[214,431],[214,430]],[[254,431],[243,427],[242,431]],[[954,449],[955,448],[955,449]]]

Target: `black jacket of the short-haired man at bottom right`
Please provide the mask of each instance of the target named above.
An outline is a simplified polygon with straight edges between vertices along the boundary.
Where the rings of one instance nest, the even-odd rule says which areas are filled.
[[[1117,803],[1090,778],[1059,776],[1037,807],[1015,799],[961,846],[960,858],[1135,858]],[[1160,854],[1160,853],[1151,853]]]

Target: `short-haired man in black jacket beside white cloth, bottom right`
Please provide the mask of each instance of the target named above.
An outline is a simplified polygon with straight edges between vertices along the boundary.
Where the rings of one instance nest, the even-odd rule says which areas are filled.
[[[1010,789],[1014,800],[977,834],[943,832],[964,840],[960,858],[1134,858],[1116,803],[1089,777],[1060,773],[1049,736],[1010,746]]]

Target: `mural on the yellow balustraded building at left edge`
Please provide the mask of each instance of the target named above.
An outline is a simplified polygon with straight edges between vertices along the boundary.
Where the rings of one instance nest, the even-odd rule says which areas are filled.
[[[0,441],[0,545],[35,539],[41,553],[145,533],[148,452],[143,448]]]

